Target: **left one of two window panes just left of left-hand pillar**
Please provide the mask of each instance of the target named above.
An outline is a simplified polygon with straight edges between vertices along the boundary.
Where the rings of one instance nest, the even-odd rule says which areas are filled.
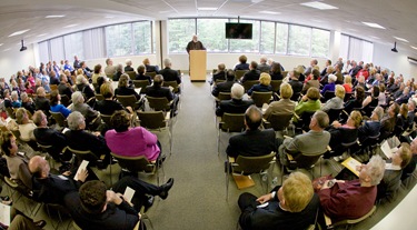
[[[106,47],[109,57],[133,54],[131,41],[131,23],[106,27]]]

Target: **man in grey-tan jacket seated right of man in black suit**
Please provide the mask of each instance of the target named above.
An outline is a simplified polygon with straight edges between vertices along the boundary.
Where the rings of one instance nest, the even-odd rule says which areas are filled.
[[[329,126],[329,117],[326,112],[317,111],[311,118],[310,131],[298,134],[295,138],[286,138],[279,147],[280,159],[287,160],[286,154],[297,158],[298,154],[325,153],[330,141],[330,133],[325,131]]]

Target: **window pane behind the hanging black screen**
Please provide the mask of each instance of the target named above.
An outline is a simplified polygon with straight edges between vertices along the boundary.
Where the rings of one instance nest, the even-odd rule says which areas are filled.
[[[237,22],[237,19],[231,19],[230,22]],[[230,52],[259,52],[259,29],[260,21],[240,20],[242,23],[252,23],[252,39],[229,39]],[[225,32],[224,32],[225,33]]]

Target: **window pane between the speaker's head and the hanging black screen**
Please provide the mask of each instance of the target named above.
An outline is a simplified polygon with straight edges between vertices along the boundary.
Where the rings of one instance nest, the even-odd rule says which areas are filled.
[[[197,19],[198,40],[202,42],[207,51],[227,52],[225,34],[227,21],[227,19]]]

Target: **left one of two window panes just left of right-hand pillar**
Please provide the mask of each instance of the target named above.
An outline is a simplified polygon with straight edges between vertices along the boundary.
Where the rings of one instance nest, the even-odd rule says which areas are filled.
[[[311,28],[301,26],[289,26],[288,54],[310,54]]]

